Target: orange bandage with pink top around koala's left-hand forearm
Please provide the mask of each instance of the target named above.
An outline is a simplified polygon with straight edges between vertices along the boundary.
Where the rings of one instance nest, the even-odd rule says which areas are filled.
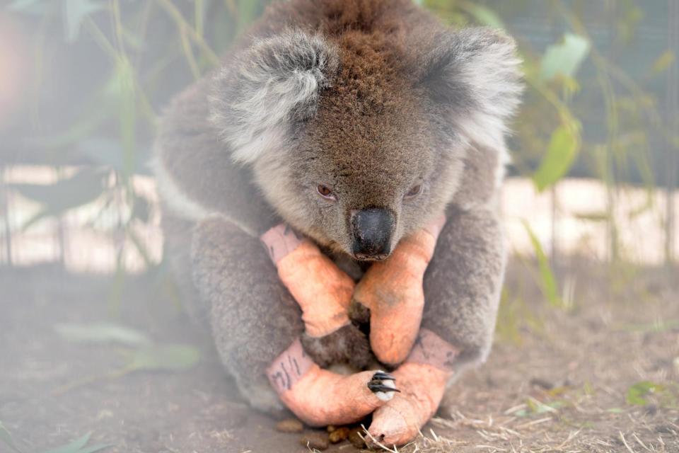
[[[349,324],[355,283],[315,244],[281,224],[261,236],[278,275],[302,309],[308,336],[320,338]]]

